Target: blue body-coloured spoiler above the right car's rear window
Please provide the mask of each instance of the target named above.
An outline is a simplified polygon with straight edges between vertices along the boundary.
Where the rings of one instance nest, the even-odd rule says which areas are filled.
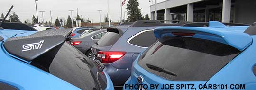
[[[228,28],[228,27],[223,27]],[[165,36],[182,36],[180,33],[194,34],[192,38],[208,39],[217,41],[237,48],[238,50],[244,50],[247,46],[251,45],[252,37],[246,33],[221,30],[219,28],[209,27],[158,27],[155,28],[154,34],[156,38],[163,38]]]

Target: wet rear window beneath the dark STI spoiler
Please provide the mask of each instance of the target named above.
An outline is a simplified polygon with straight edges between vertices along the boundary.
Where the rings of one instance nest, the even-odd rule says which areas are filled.
[[[98,67],[67,43],[37,57],[30,64],[82,90],[101,90],[107,86],[104,74],[97,74]]]

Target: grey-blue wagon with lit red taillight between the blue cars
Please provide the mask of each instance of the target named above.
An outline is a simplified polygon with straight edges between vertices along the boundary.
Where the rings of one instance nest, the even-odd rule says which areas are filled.
[[[92,45],[92,60],[106,68],[115,87],[122,87],[130,77],[132,62],[157,39],[153,29],[160,26],[179,26],[159,21],[137,21],[130,26],[107,28],[107,33]]]

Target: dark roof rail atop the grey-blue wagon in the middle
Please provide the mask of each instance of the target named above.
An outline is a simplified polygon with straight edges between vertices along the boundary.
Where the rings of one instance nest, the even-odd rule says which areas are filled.
[[[161,23],[158,20],[138,20],[130,25],[130,27],[153,27],[153,26],[182,26],[186,22],[178,22],[175,24]]]

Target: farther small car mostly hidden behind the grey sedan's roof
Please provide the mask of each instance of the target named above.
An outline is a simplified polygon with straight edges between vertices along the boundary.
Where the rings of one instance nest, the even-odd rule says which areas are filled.
[[[72,30],[72,37],[79,37],[83,32],[88,32],[91,29],[95,29],[92,27],[75,27]]]

